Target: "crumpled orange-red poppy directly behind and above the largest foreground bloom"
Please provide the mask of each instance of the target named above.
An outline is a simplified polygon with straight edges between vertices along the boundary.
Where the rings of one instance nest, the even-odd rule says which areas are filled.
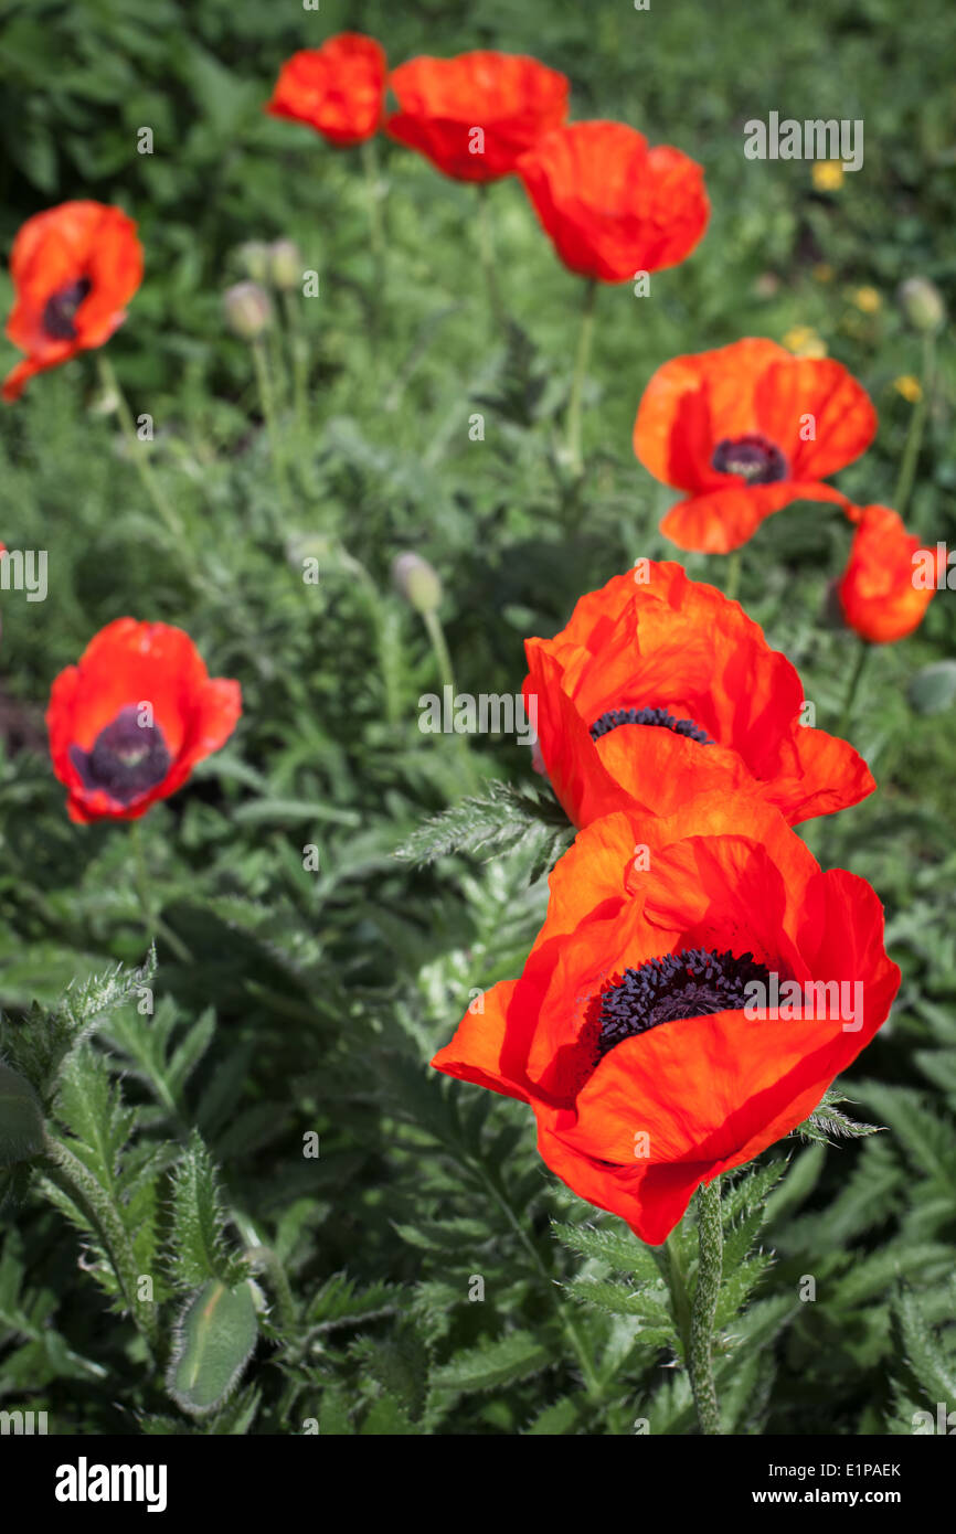
[[[575,825],[629,804],[666,815],[704,788],[747,788],[795,825],[873,792],[847,741],[801,724],[786,655],[680,565],[641,560],[525,650],[525,709]]]

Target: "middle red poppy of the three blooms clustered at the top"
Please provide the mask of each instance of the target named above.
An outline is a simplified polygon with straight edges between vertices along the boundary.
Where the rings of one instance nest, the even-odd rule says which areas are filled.
[[[456,181],[497,181],[543,132],[568,117],[568,80],[523,54],[411,58],[388,86],[399,110],[385,123]]]

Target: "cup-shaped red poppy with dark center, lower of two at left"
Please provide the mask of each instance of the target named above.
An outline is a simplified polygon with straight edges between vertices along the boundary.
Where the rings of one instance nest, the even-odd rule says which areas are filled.
[[[135,821],[232,735],[238,681],[209,676],[189,634],[117,618],[57,676],[46,727],[71,821]]]

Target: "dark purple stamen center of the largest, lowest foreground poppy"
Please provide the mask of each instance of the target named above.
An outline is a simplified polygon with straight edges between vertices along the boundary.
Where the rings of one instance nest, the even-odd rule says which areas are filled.
[[[746,985],[769,985],[770,973],[753,954],[687,948],[661,959],[648,959],[638,969],[625,969],[592,1000],[598,1025],[597,1058],[625,1039],[684,1017],[737,1011],[747,1002]]]

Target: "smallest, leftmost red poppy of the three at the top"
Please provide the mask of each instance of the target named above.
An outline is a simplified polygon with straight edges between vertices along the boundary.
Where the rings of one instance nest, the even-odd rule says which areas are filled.
[[[387,72],[381,43],[361,32],[339,32],[282,64],[265,110],[308,123],[342,149],[361,144],[382,126]]]

